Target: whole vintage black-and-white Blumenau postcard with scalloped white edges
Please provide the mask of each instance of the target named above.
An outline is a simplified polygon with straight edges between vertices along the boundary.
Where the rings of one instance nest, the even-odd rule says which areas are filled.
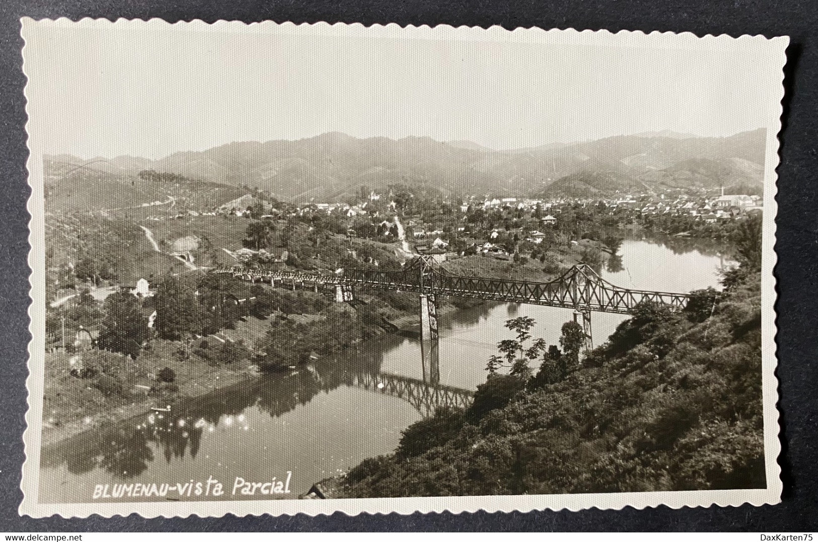
[[[780,500],[787,38],[22,33],[20,513]]]

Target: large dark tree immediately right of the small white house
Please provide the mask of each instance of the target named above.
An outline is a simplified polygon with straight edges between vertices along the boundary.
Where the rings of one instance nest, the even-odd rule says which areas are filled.
[[[191,285],[168,276],[156,288],[154,326],[161,338],[178,340],[196,333],[205,320],[205,311]]]

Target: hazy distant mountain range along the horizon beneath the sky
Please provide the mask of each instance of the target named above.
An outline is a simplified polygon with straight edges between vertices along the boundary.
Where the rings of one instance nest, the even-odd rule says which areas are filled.
[[[766,131],[730,137],[649,132],[596,141],[492,150],[429,137],[358,139],[339,132],[298,141],[236,142],[151,160],[118,156],[88,164],[112,175],[144,169],[230,186],[257,186],[281,199],[344,199],[361,186],[405,183],[444,194],[596,197],[672,187],[762,186]],[[82,164],[70,155],[52,164]],[[56,177],[54,177],[56,178]]]

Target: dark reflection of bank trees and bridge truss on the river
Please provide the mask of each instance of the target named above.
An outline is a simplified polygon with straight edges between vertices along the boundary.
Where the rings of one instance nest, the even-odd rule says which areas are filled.
[[[411,340],[398,334],[381,338],[386,348],[366,344],[344,356],[317,360],[287,374],[250,378],[204,396],[178,401],[169,413],[137,416],[109,427],[92,429],[43,449],[41,468],[65,466],[72,474],[102,470],[115,479],[128,480],[144,473],[159,460],[196,459],[202,436],[219,424],[241,419],[255,408],[278,418],[307,405],[321,393],[339,387],[354,387],[407,401],[423,418],[438,406],[470,405],[472,392],[439,383],[439,363],[434,352],[424,347],[423,379],[380,371],[390,347]]]

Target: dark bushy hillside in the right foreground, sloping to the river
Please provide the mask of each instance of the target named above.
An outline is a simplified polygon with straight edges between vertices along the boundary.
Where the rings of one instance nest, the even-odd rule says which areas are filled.
[[[694,292],[680,313],[645,303],[590,352],[573,323],[560,350],[529,336],[530,319],[509,320],[516,337],[498,345],[470,408],[411,425],[334,496],[765,486],[760,221],[744,222],[735,243],[741,266],[721,293]]]

